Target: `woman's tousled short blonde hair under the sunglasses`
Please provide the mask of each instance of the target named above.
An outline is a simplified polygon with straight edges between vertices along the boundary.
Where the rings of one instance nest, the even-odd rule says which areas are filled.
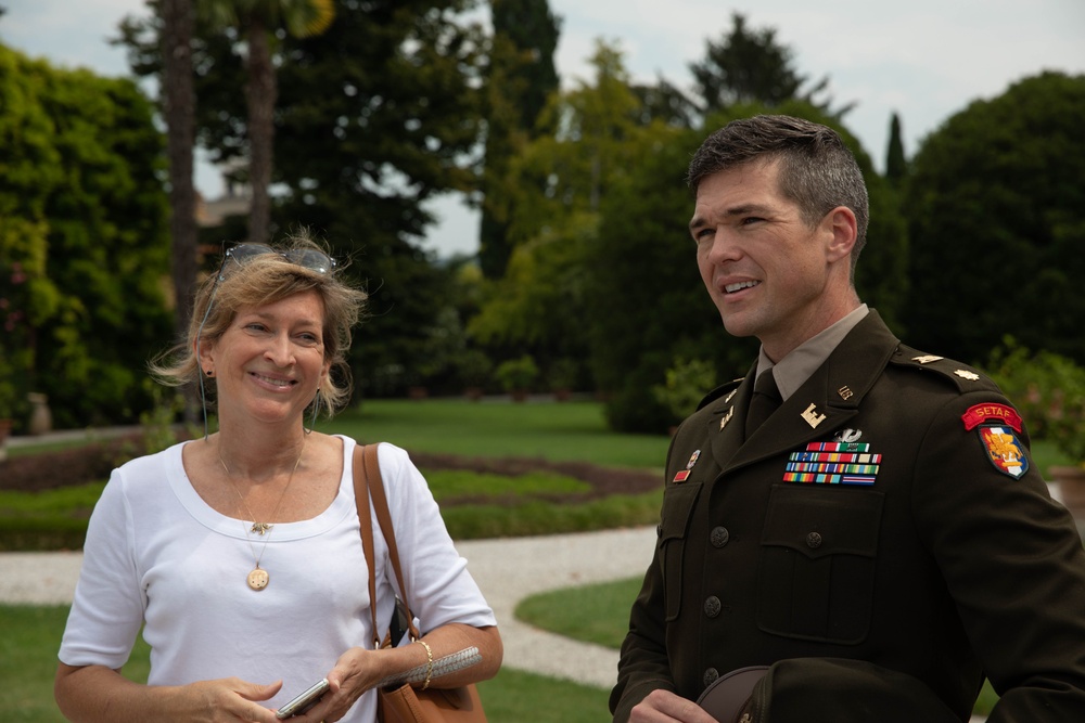
[[[289,260],[307,251],[328,254],[304,232],[270,248],[271,253],[247,256],[243,262],[232,257],[224,259],[221,273],[212,274],[200,284],[186,340],[153,360],[149,365],[151,374],[167,386],[202,384],[199,348],[220,338],[233,323],[239,309],[316,292],[324,310],[324,361],[330,369],[317,389],[314,415],[321,408],[331,415],[350,396],[350,366],[346,354],[350,349],[352,330],[361,319],[367,295],[344,283],[335,268],[318,271]]]

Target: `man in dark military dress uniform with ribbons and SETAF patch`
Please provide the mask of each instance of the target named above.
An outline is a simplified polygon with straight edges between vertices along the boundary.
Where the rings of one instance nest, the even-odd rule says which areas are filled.
[[[1085,721],[1076,528],[998,388],[859,300],[867,194],[840,137],[737,120],[689,182],[709,296],[762,349],[672,443],[614,720],[709,723],[693,701],[758,667],[743,721],[967,721],[985,676],[991,723]]]

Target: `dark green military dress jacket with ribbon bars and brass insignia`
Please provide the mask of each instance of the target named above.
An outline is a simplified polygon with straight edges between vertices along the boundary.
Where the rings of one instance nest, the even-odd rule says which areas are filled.
[[[1085,554],[997,387],[873,311],[745,439],[753,373],[672,441],[614,720],[825,657],[914,676],[962,721],[984,676],[990,723],[1085,721]]]

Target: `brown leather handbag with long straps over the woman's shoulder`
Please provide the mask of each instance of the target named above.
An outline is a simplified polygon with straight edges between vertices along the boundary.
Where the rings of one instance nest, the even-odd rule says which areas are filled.
[[[403,602],[405,617],[410,632],[410,638],[417,641],[418,628],[414,616],[410,611],[407,589],[404,583],[403,570],[399,567],[399,551],[396,547],[395,530],[392,528],[392,515],[388,512],[388,500],[384,494],[384,482],[381,480],[381,467],[376,456],[376,444],[358,444],[354,451],[354,496],[358,505],[358,520],[361,522],[361,546],[366,551],[366,565],[369,566],[369,614],[373,620],[373,635],[378,636],[376,627],[376,581],[375,555],[373,546],[373,524],[369,516],[369,501],[372,499],[376,513],[376,521],[381,533],[388,545],[388,557],[392,569],[399,581],[399,599]],[[376,641],[374,641],[376,643]],[[384,637],[381,647],[392,645],[391,635]],[[376,720],[383,723],[486,723],[486,713],[482,709],[482,699],[474,683],[455,688],[416,689],[410,683],[399,686],[381,688],[378,692]]]

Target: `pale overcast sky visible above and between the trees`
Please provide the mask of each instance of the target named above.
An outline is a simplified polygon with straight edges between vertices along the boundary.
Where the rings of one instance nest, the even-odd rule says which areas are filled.
[[[0,41],[58,65],[127,75],[106,42],[142,0],[0,0]],[[971,101],[988,99],[1045,69],[1085,74],[1085,0],[550,0],[562,18],[558,72],[566,86],[591,77],[596,38],[616,40],[637,80],[662,75],[687,87],[689,64],[731,13],[776,29],[810,79],[828,76],[835,105],[855,103],[845,125],[883,166],[890,116],[899,114],[905,152]],[[1085,118],[1082,119],[1085,127]],[[215,197],[221,183],[201,164],[196,184]],[[454,198],[434,206],[444,222],[426,246],[474,253],[477,219]],[[680,231],[680,230],[679,230]],[[330,240],[334,244],[334,240]]]

